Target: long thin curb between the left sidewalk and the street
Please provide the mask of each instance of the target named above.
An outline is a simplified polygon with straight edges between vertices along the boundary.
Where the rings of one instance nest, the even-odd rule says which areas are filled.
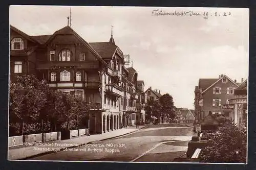
[[[145,127],[147,127],[147,126],[144,126],[143,128],[145,128]],[[141,129],[143,129],[143,128],[141,128]],[[138,129],[138,130],[140,130],[140,129]],[[136,130],[136,131],[138,131],[138,130]],[[136,131],[133,131],[133,132],[136,132]],[[109,137],[109,138],[105,138],[105,139],[101,139],[101,140],[93,140],[93,141],[90,141],[90,142],[87,142],[87,143],[81,143],[81,145],[90,144],[90,143],[93,143],[93,142],[96,142],[96,141],[104,141],[104,140],[120,137],[120,136],[123,136],[123,135],[127,135],[127,134],[130,134],[130,133],[133,133],[133,132],[128,132],[128,133],[125,133],[125,134],[122,134],[122,135],[118,135],[118,136],[114,136],[114,137]],[[55,151],[48,151],[48,152],[39,153],[39,154],[36,154],[36,155],[31,155],[31,156],[27,156],[27,157],[24,157],[24,158],[20,158],[20,159],[17,159],[17,160],[27,160],[27,159],[35,158],[35,157],[38,157],[38,156],[43,156],[43,155],[48,155],[48,154],[53,154],[53,153],[61,152],[64,149],[77,148],[77,147],[78,146],[65,147],[65,148],[61,148],[59,151],[56,151],[56,152]],[[15,159],[13,159],[13,160],[15,160]]]

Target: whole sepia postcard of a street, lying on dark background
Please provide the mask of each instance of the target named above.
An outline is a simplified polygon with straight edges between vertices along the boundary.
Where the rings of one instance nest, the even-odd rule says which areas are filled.
[[[8,160],[247,164],[248,8],[9,11]]]

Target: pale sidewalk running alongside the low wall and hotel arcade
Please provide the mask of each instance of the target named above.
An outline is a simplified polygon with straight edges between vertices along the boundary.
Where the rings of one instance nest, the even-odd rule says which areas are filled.
[[[140,129],[143,129],[144,127],[146,126],[140,126]],[[104,134],[76,137],[73,139],[60,140],[57,142],[42,143],[47,145],[36,145],[37,143],[35,143],[35,145],[33,146],[9,148],[8,160],[28,159],[28,158],[32,158],[40,155],[59,152],[59,151],[62,151],[64,148],[74,148],[76,147],[74,145],[77,145],[77,144],[82,145],[89,142],[96,142],[96,141],[111,139],[117,136],[122,136],[125,134],[135,132],[137,130],[139,129],[136,129],[136,127],[127,127],[127,128],[106,132]],[[73,143],[73,144],[70,144],[70,143]]]

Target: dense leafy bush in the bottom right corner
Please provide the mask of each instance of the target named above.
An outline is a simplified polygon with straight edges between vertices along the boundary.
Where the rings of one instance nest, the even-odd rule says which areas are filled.
[[[246,163],[246,135],[245,128],[225,124],[217,133],[211,133],[212,140],[203,149],[200,162]]]

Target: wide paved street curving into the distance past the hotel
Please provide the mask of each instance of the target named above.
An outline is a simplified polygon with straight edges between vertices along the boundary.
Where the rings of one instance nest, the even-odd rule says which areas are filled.
[[[186,153],[195,135],[186,125],[152,125],[121,137],[30,160],[172,162]]]

